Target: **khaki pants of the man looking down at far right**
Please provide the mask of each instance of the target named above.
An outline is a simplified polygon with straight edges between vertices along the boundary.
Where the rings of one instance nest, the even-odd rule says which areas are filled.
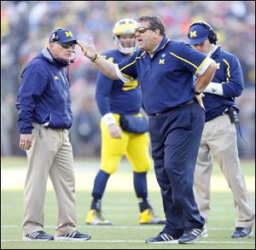
[[[195,167],[194,192],[201,216],[206,221],[210,212],[212,156],[218,161],[232,190],[237,213],[236,227],[252,227],[255,213],[253,201],[247,192],[245,178],[241,172],[236,146],[236,127],[230,123],[228,115],[207,121],[201,137]],[[225,210],[224,206],[223,209]]]

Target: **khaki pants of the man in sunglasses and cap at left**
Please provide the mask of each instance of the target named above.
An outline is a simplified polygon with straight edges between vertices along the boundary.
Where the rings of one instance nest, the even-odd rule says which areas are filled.
[[[26,151],[28,169],[24,189],[23,234],[44,227],[44,199],[50,177],[58,201],[55,235],[75,230],[75,180],[73,149],[67,130],[54,130],[33,124],[32,148]],[[48,216],[51,215],[49,210]]]

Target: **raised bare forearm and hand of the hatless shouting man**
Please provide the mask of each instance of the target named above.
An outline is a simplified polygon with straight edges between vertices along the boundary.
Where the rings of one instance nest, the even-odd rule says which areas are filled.
[[[96,48],[93,44],[92,38],[90,38],[89,44],[84,44],[84,42],[78,40],[78,44],[84,53],[84,55],[90,59],[90,61],[94,62],[96,64],[96,67],[108,78],[111,78],[113,80],[119,79],[118,75],[115,73],[114,70],[114,64],[111,61],[108,61],[102,56],[98,55],[96,53]]]

